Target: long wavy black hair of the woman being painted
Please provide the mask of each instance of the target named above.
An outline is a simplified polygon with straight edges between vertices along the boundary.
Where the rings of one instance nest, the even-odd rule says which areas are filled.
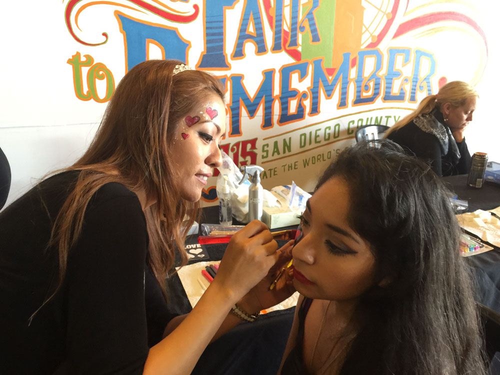
[[[439,177],[388,140],[342,151],[315,190],[332,176],[346,181],[350,227],[371,244],[384,280],[360,297],[362,326],[340,374],[485,373],[471,278]]]

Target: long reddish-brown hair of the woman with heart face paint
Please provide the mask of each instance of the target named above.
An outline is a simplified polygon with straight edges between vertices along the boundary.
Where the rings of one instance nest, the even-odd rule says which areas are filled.
[[[58,285],[51,296],[64,279],[68,252],[81,233],[85,208],[92,195],[108,182],[119,182],[154,198],[155,203],[144,210],[148,262],[165,295],[164,279],[174,264],[175,245],[181,249],[185,264],[184,239],[199,203],[180,198],[170,146],[178,121],[207,95],[216,94],[223,101],[224,88],[217,78],[203,71],[173,74],[175,65],[181,63],[148,60],[130,69],[116,87],[86,152],[63,169],[81,172],[51,231],[48,245],[56,247],[59,255]]]

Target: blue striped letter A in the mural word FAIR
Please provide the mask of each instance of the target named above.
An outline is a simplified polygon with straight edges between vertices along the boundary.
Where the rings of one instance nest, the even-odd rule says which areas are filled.
[[[248,32],[250,19],[253,20],[253,29],[255,33]],[[258,0],[245,0],[243,4],[243,15],[239,22],[238,39],[236,40],[236,46],[232,53],[233,58],[244,57],[243,47],[246,41],[252,41],[255,44],[257,47],[256,54],[267,52]]]

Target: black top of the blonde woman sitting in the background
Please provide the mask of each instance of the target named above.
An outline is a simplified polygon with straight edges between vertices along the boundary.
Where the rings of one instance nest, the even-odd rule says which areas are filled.
[[[435,111],[434,117],[446,126],[441,112]],[[409,151],[410,154],[414,154],[419,159],[428,163],[432,170],[439,176],[466,174],[469,172],[470,153],[465,139],[461,142],[456,142],[454,138],[449,140],[450,142],[456,142],[458,151],[460,152],[460,159],[457,163],[453,163],[452,161],[451,146],[448,147],[448,152],[443,155],[436,136],[423,131],[413,121],[389,133],[387,139],[396,142],[406,151]]]

